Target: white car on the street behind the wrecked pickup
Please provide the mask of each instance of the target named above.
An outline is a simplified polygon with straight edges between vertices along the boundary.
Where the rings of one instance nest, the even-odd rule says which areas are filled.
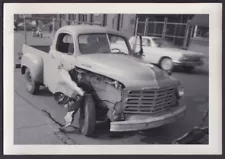
[[[135,39],[135,36],[129,39],[133,47],[135,45]],[[174,66],[178,66],[190,72],[195,67],[204,64],[204,56],[202,53],[179,49],[172,42],[160,37],[143,36],[142,45],[142,59],[146,62],[156,64],[167,71],[171,71]],[[136,49],[140,48],[139,40],[137,40],[135,47]]]

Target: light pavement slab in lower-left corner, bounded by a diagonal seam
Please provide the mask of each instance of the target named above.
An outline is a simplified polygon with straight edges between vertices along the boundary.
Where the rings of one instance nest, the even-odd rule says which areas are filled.
[[[14,144],[63,144],[59,126],[14,92]]]

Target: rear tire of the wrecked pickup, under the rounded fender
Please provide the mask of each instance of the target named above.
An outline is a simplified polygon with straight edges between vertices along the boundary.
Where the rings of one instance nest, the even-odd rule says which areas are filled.
[[[26,84],[26,87],[27,87],[27,91],[30,94],[37,94],[37,92],[39,91],[40,85],[38,85],[32,79],[31,72],[30,72],[29,68],[26,68],[24,76],[25,76],[25,84]]]

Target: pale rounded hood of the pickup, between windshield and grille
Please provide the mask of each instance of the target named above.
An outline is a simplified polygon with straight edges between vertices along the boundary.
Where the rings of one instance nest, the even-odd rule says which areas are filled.
[[[107,76],[126,87],[158,88],[176,84],[176,80],[159,68],[123,54],[88,54],[77,57],[76,66]]]

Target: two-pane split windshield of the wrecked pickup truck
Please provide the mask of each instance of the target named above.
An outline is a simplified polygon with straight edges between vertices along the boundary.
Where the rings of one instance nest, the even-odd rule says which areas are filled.
[[[82,34],[78,37],[82,54],[121,53],[129,54],[125,38],[112,34]]]

